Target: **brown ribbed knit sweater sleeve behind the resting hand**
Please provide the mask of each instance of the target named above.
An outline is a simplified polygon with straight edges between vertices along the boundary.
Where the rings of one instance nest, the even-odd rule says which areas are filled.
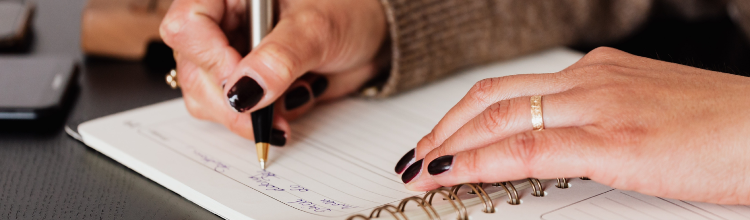
[[[687,19],[729,13],[750,34],[750,0],[380,0],[392,50],[386,97],[479,65],[549,47],[601,44],[659,5]]]

